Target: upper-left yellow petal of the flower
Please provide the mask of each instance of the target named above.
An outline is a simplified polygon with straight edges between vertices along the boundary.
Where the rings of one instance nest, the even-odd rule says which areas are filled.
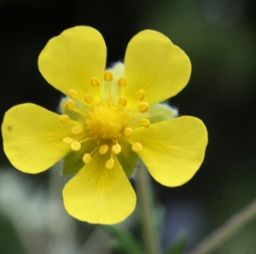
[[[38,58],[39,71],[49,84],[65,95],[69,89],[78,92],[79,101],[90,93],[95,102],[103,93],[103,74],[107,49],[100,32],[90,26],[75,26],[51,38]],[[100,87],[90,84],[90,79],[100,80]]]

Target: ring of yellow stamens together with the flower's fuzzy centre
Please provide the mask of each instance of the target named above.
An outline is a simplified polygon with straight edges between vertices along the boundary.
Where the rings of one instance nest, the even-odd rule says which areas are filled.
[[[94,139],[98,145],[91,153],[84,153],[82,158],[84,164],[90,163],[92,156],[96,151],[102,155],[109,153],[110,159],[106,161],[105,165],[108,170],[111,170],[114,167],[115,158],[113,155],[122,152],[122,147],[119,144],[120,139],[125,139],[130,142],[131,150],[133,152],[140,153],[142,151],[142,144],[139,142],[133,143],[129,138],[133,135],[134,128],[137,128],[138,126],[148,128],[150,122],[148,118],[142,118],[140,124],[131,126],[130,121],[136,113],[148,112],[149,105],[146,101],[143,101],[146,92],[143,89],[140,89],[136,93],[137,100],[139,101],[137,104],[137,111],[131,111],[126,108],[127,99],[124,96],[121,96],[122,89],[125,89],[125,86],[127,85],[127,79],[125,77],[121,77],[118,80],[119,98],[117,104],[113,103],[111,94],[113,72],[106,70],[104,72],[104,80],[108,84],[108,101],[102,101],[102,96],[98,90],[102,102],[95,105],[93,95],[86,93],[84,95],[84,102],[90,107],[89,113],[83,113],[75,108],[73,99],[77,99],[79,94],[74,89],[68,90],[67,94],[71,99],[67,100],[65,106],[67,110],[80,113],[84,117],[84,122],[78,122],[77,125],[73,126],[70,136],[65,137],[63,142],[70,145],[73,151],[79,151],[84,142]],[[102,85],[96,77],[90,79],[90,84],[96,89]],[[67,115],[61,115],[61,123],[65,124],[68,120],[69,117]]]

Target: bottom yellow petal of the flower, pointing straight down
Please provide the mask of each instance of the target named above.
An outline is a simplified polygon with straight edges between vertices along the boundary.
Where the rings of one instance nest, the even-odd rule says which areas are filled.
[[[63,189],[67,212],[80,221],[114,224],[135,208],[136,195],[118,159],[113,156],[113,169],[105,166],[109,154],[97,152]]]

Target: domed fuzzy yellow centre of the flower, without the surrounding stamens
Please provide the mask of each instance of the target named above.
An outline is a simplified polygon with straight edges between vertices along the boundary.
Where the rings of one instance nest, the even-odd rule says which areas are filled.
[[[102,104],[93,108],[85,118],[90,136],[98,140],[116,140],[121,136],[128,123],[128,114],[122,107]]]

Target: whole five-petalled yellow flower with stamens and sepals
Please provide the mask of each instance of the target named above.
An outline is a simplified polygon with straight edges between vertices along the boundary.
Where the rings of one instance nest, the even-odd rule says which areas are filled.
[[[136,195],[131,176],[137,156],[168,187],[189,181],[200,167],[207,130],[198,118],[178,117],[157,102],[188,83],[191,65],[182,49],[160,32],[139,32],[124,65],[105,70],[102,35],[76,26],[52,38],[38,58],[44,78],[67,98],[61,116],[34,104],[9,109],[3,146],[10,162],[39,173],[63,159],[76,173],[63,189],[67,212],[81,221],[113,224],[129,216]]]

